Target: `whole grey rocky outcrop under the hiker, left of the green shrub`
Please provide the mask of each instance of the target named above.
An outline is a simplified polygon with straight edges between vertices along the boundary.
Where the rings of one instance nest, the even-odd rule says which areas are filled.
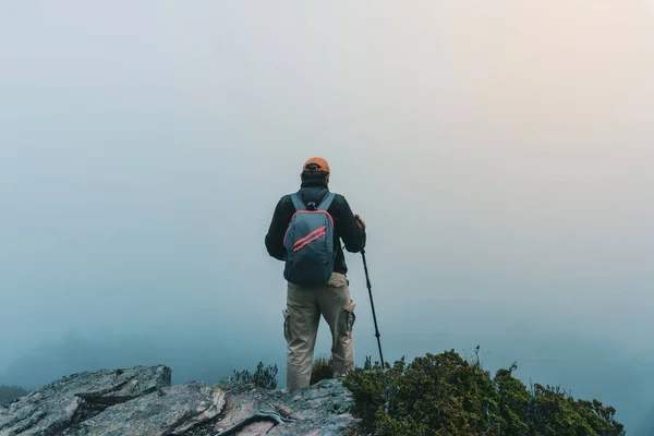
[[[347,435],[352,397],[339,380],[303,391],[226,379],[171,385],[167,366],[63,377],[0,407],[0,436]]]

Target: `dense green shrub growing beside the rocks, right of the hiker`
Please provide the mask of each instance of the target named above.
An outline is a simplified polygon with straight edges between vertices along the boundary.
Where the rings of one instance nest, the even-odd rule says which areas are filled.
[[[451,350],[410,364],[402,358],[385,372],[367,358],[343,385],[353,393],[362,432],[376,435],[625,435],[615,409],[574,400],[558,387],[528,388],[513,377],[517,367],[492,376],[482,368],[479,347],[471,362]]]

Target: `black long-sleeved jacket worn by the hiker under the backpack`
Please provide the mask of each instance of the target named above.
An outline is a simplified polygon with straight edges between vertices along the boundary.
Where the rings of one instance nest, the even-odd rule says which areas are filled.
[[[315,202],[318,205],[328,192],[329,189],[323,181],[306,180],[302,182],[299,195],[304,204]],[[266,234],[265,240],[268,254],[276,259],[284,261],[286,258],[283,235],[294,213],[295,207],[290,194],[282,196],[275,207],[272,220],[270,221],[268,234]],[[336,194],[327,213],[334,218],[334,246],[336,247],[334,271],[347,274],[348,265],[346,264],[346,256],[343,255],[339,240],[343,241],[348,252],[359,253],[365,247],[365,231],[359,227],[348,201],[340,194]]]

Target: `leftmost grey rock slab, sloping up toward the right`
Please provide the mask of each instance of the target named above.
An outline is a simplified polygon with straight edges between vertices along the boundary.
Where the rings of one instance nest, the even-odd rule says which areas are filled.
[[[170,385],[167,366],[78,373],[0,407],[0,436],[61,435],[105,409]]]

